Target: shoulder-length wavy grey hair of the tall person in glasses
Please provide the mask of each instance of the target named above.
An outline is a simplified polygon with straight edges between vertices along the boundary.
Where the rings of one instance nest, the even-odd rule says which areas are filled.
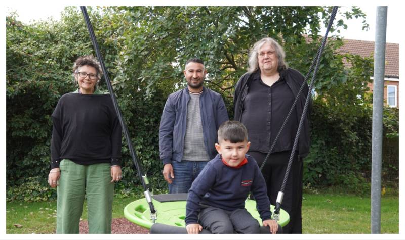
[[[284,52],[284,49],[282,49],[282,46],[278,44],[276,40],[274,40],[271,37],[264,37],[257,41],[253,47],[252,50],[250,51],[249,54],[249,69],[248,72],[253,73],[259,69],[259,63],[258,63],[258,58],[257,54],[261,47],[264,45],[264,43],[270,43],[271,46],[274,47],[275,52],[277,53],[277,58],[278,58],[278,67],[277,71],[281,71],[282,69],[287,68],[287,63],[285,62],[286,58],[286,53]]]

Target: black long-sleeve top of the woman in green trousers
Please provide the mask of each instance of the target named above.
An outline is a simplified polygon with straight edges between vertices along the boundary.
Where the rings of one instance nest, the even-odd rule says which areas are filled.
[[[51,168],[62,159],[77,164],[121,164],[121,126],[108,94],[64,94],[53,114]]]

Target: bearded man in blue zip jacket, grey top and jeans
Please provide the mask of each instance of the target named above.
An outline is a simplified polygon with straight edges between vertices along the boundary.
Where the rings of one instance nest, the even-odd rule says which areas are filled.
[[[228,113],[221,95],[203,86],[207,70],[198,58],[186,62],[187,87],[169,95],[159,128],[160,159],[169,193],[187,193],[216,155],[219,126]]]

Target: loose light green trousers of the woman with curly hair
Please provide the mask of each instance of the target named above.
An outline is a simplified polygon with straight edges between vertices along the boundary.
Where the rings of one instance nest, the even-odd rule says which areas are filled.
[[[79,233],[85,194],[89,233],[111,233],[114,183],[109,163],[76,164],[68,159],[60,163],[56,233]]]

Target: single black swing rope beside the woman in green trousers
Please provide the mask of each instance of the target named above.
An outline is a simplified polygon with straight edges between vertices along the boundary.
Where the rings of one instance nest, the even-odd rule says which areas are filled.
[[[123,129],[125,139],[127,140],[128,149],[130,151],[132,160],[134,162],[134,166],[135,166],[135,168],[137,170],[137,173],[138,173],[138,176],[139,176],[139,178],[141,180],[142,187],[145,190],[144,194],[145,194],[146,200],[147,200],[147,202],[149,204],[150,213],[152,215],[154,215],[153,217],[155,217],[156,210],[155,210],[155,208],[153,206],[151,196],[150,196],[150,192],[152,192],[152,188],[149,186],[149,182],[147,180],[146,175],[142,174],[142,168],[141,168],[141,166],[139,165],[139,163],[137,161],[136,152],[134,151],[134,147],[132,145],[132,141],[131,141],[130,134],[128,132],[127,125],[124,122],[123,114],[119,110],[118,102],[117,102],[117,100],[115,98],[114,90],[113,90],[112,85],[111,85],[111,80],[110,80],[110,78],[108,76],[107,68],[105,67],[103,57],[101,55],[99,45],[97,43],[96,35],[94,34],[93,27],[92,27],[92,24],[90,22],[89,15],[87,14],[86,7],[80,6],[80,9],[82,10],[83,17],[85,18],[85,22],[86,22],[86,25],[87,25],[87,30],[89,31],[90,38],[91,38],[91,41],[92,41],[93,46],[94,46],[94,50],[96,51],[97,59],[100,62],[101,68],[103,69],[104,79],[105,79],[105,82],[107,83],[107,88],[108,88],[108,91],[110,92],[111,100],[112,100],[112,103],[114,105],[114,109],[115,109],[115,112],[117,114],[119,124],[121,125],[121,128]],[[154,219],[152,219],[152,220],[154,220]]]

